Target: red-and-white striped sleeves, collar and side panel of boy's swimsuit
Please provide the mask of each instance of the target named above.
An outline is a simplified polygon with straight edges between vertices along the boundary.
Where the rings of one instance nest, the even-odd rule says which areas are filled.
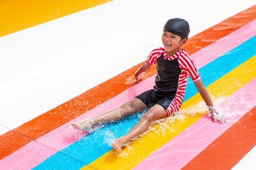
[[[167,53],[163,47],[156,48],[148,55],[146,61],[150,65],[156,64],[157,59],[161,55],[164,56],[164,59],[167,58]],[[195,63],[191,59],[191,57],[189,57],[188,53],[186,53],[185,50],[180,48],[178,52],[176,52],[171,57],[168,57],[168,60],[173,60],[177,58],[179,62],[179,67],[181,69],[181,73],[179,74],[179,82],[178,82],[175,98],[173,99],[172,103],[170,104],[167,110],[168,116],[174,113],[175,111],[179,110],[185,95],[188,76],[191,78],[193,82],[200,80],[200,75],[196,69]]]

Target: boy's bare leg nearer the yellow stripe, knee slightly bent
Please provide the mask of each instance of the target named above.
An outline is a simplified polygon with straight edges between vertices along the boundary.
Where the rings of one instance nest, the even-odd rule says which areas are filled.
[[[152,122],[159,120],[160,118],[166,117],[166,110],[159,104],[154,105],[150,110],[147,111],[140,118],[140,122],[132,127],[131,131],[128,132],[125,136],[121,136],[111,143],[111,146],[117,151],[120,152],[122,147],[125,146],[129,141],[136,138],[140,134],[148,131]]]

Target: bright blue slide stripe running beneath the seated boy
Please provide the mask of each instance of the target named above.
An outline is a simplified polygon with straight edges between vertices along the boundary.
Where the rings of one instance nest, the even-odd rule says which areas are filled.
[[[198,71],[205,87],[253,57],[256,53],[255,49],[256,36],[248,39],[248,41],[237,46],[230,52],[225,53],[218,59],[200,68]],[[196,93],[197,90],[195,85],[191,79],[189,79],[184,101],[188,100]],[[69,160],[69,162],[66,162],[66,160],[61,161],[62,157],[58,152],[36,166],[34,169],[80,169],[83,167],[81,164],[76,164],[76,160],[84,162],[86,165],[90,164],[106,152],[109,152],[109,150],[112,149],[110,146],[111,141],[127,134],[127,132],[129,132],[131,128],[139,122],[141,115],[143,115],[143,113],[131,115],[116,124],[105,125],[101,129],[85,136],[67,148],[64,148],[60,152],[74,158]]]

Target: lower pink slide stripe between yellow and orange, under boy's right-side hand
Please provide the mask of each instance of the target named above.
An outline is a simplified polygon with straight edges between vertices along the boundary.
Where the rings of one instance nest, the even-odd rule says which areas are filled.
[[[147,167],[150,169],[181,169],[184,167],[256,105],[255,84],[256,78],[220,104],[223,113],[234,115],[227,124],[214,123],[207,115],[204,115],[133,169],[147,169]]]

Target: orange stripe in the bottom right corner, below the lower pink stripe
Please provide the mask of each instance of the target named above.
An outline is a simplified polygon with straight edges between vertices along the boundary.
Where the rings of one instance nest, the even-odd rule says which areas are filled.
[[[231,169],[256,145],[256,106],[182,169]]]

